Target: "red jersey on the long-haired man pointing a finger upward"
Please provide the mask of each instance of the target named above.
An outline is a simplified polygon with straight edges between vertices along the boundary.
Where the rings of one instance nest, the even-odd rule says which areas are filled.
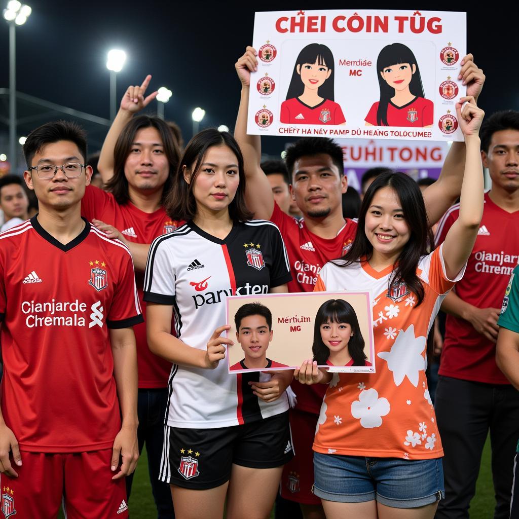
[[[113,225],[125,235],[125,239],[134,243],[151,243],[157,236],[171,233],[180,224],[171,221],[166,211],[158,209],[154,213],[145,213],[136,208],[131,202],[120,205],[111,193],[89,186],[81,200],[81,214],[92,220],[97,218],[104,223]],[[146,303],[143,300],[144,272],[135,273],[139,301],[143,314],[146,313]],[[137,342],[137,363],[139,367],[140,388],[165,388],[168,386],[171,363],[161,359],[149,351],[146,342],[146,323],[134,327]],[[174,326],[171,326],[174,330]]]

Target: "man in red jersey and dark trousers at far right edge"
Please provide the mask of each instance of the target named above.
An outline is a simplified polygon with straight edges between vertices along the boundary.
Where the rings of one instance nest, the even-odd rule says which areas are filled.
[[[445,499],[436,517],[469,517],[483,445],[490,430],[496,519],[509,517],[513,457],[519,438],[519,393],[496,365],[497,319],[519,263],[519,112],[498,112],[481,127],[481,156],[492,187],[463,279],[442,305],[447,315],[436,389],[445,457]],[[436,232],[445,239],[459,206]]]

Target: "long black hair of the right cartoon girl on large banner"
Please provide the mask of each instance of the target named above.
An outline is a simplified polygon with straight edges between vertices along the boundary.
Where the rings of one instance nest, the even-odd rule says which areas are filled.
[[[401,43],[392,43],[386,45],[378,54],[377,58],[377,78],[378,86],[380,88],[380,101],[377,110],[377,126],[388,125],[388,104],[390,99],[394,96],[394,88],[390,87],[386,80],[380,75],[389,65],[398,65],[400,63],[409,63],[411,69],[415,65],[415,73],[411,76],[411,83],[409,83],[409,92],[416,97],[425,98],[424,87],[421,84],[420,70],[416,62],[413,51]]]

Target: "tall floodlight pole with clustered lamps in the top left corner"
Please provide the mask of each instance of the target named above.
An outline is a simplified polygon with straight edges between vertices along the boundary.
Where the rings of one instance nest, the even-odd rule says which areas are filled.
[[[17,168],[16,147],[16,26],[23,25],[32,9],[18,0],[11,0],[4,9],[4,18],[9,23],[9,161],[11,172]]]

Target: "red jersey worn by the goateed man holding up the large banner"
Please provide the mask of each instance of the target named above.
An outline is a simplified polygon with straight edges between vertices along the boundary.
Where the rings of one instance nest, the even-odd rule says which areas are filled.
[[[312,292],[321,268],[326,262],[344,256],[357,232],[357,222],[347,219],[335,238],[320,238],[306,228],[303,219],[283,213],[277,203],[270,220],[279,227],[289,255],[292,274],[289,292]],[[291,386],[297,395],[296,408],[319,414],[326,387],[323,384],[307,386],[296,380]]]

